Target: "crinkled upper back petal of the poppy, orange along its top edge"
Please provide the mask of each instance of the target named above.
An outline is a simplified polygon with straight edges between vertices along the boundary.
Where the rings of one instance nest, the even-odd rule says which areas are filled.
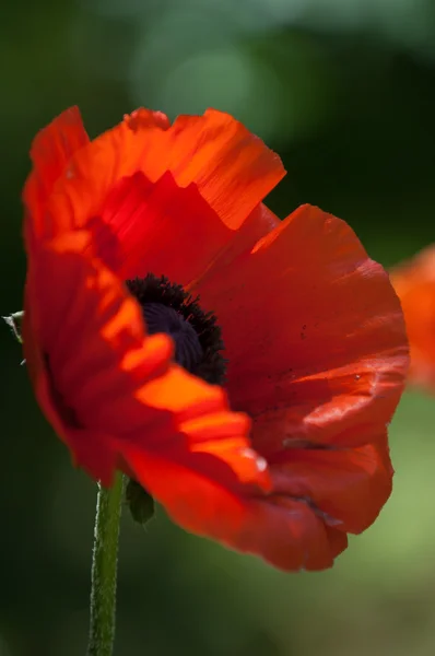
[[[261,200],[284,175],[281,161],[212,109],[173,126],[139,109],[89,143],[72,108],[39,133],[32,157],[24,201],[37,239],[86,227],[122,278],[152,271],[192,284],[278,221]],[[32,192],[37,180],[44,194]]]

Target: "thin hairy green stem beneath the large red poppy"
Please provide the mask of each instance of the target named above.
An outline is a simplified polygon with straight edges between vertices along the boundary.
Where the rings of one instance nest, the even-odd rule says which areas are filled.
[[[87,656],[111,656],[115,637],[116,577],[124,476],[109,490],[98,485],[91,583]]]

